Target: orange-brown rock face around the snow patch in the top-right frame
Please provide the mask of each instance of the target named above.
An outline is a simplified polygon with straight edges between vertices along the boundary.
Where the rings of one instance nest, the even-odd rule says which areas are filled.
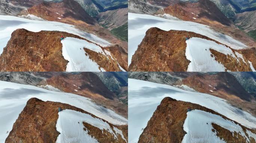
[[[196,34],[188,31],[163,31],[159,28],[150,28],[147,30],[145,37],[140,45],[138,45],[137,51],[132,55],[131,64],[128,68],[129,71],[187,71],[190,61],[186,58],[186,36],[203,38],[221,44],[220,42],[208,38],[207,36]],[[224,44],[222,44],[224,45]],[[227,45],[225,45],[227,48]],[[244,60],[239,57],[234,58],[226,55],[214,52],[210,49],[212,56],[216,61],[223,64],[226,70],[230,71],[251,71],[249,59],[255,60],[256,53],[252,49],[234,50],[240,54],[244,54]],[[249,54],[251,51],[252,53]],[[248,59],[247,59],[248,58]],[[240,62],[237,61],[239,59]],[[254,61],[252,61],[254,62]]]

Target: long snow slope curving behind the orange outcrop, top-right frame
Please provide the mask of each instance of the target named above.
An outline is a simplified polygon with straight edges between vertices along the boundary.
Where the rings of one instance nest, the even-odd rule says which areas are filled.
[[[138,45],[146,34],[146,31],[152,27],[157,27],[165,31],[183,30],[195,32],[197,34],[205,35],[222,44],[228,45],[234,49],[243,49],[247,47],[232,37],[215,32],[208,26],[199,23],[177,20],[176,18],[165,19],[152,15],[128,13],[128,65],[131,63],[132,55],[137,50]]]

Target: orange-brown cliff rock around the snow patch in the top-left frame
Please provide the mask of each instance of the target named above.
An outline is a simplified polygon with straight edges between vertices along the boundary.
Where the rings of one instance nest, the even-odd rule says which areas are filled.
[[[0,55],[0,71],[66,71],[68,61],[62,54],[61,35],[88,41],[67,32],[30,32],[25,29],[17,29],[12,33],[11,39]],[[100,48],[103,49],[103,47]],[[106,71],[121,71],[113,54],[113,58],[111,58],[110,55],[95,54],[96,52],[87,48],[84,50],[88,52],[91,60]],[[115,55],[120,56],[118,54]]]

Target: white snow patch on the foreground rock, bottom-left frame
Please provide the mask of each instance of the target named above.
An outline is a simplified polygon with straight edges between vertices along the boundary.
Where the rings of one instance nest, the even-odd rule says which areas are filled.
[[[91,137],[88,134],[88,130],[83,130],[83,122],[93,125],[94,127],[99,128],[100,130],[106,130],[109,133],[113,134],[115,139],[117,139],[118,134],[122,137],[122,131],[118,128],[114,128],[114,131],[110,125],[104,122],[101,119],[94,118],[89,114],[82,112],[65,109],[58,113],[59,118],[57,120],[56,128],[60,132],[56,143],[98,143],[97,139]],[[124,139],[124,138],[123,138]]]

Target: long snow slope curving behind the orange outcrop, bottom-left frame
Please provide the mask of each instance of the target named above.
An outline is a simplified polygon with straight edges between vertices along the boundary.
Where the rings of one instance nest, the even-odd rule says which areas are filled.
[[[43,101],[61,102],[81,108],[112,124],[127,124],[127,119],[110,109],[95,104],[89,98],[36,86],[0,81],[0,142],[4,142],[26,102],[33,97]]]

